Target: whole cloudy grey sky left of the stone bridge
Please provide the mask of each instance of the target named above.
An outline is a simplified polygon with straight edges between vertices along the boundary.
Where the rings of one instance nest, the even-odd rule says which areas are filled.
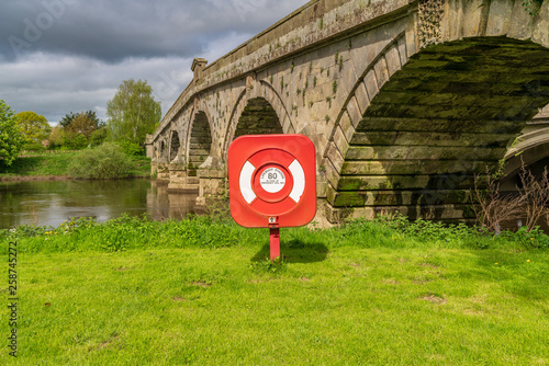
[[[306,0],[0,0],[0,99],[56,124],[146,79],[163,114],[192,79]]]

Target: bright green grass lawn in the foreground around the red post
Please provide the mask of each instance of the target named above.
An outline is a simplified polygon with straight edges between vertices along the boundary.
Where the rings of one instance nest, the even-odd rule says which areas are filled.
[[[281,229],[279,264],[268,230],[208,218],[1,231],[20,308],[0,363],[548,365],[549,251],[460,230]]]

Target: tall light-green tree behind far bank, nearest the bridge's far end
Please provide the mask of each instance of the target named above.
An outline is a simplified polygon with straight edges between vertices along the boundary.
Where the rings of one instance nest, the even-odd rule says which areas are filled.
[[[160,102],[153,98],[147,81],[124,80],[107,104],[109,128],[114,140],[131,140],[144,145],[147,134],[153,134],[160,122]]]

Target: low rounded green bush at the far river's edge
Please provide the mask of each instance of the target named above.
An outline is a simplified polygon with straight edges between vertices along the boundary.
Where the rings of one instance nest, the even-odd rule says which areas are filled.
[[[108,180],[127,178],[133,164],[122,149],[114,144],[83,150],[72,158],[69,174],[74,178]]]

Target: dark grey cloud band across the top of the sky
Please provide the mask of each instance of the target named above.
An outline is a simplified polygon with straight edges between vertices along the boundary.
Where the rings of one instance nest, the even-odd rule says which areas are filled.
[[[5,59],[32,52],[115,62],[125,57],[200,55],[228,30],[257,33],[305,1],[30,0],[0,14]],[[15,39],[19,39],[16,42]],[[16,45],[13,47],[13,45]]]

